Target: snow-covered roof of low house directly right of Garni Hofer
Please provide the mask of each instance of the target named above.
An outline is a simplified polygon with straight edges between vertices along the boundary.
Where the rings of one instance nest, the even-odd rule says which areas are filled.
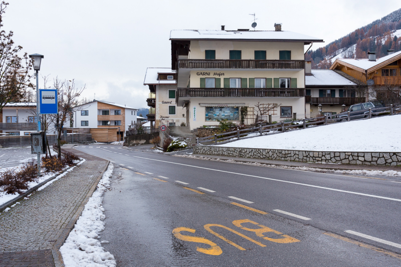
[[[356,85],[332,70],[312,70],[312,76],[305,76],[305,85]]]

